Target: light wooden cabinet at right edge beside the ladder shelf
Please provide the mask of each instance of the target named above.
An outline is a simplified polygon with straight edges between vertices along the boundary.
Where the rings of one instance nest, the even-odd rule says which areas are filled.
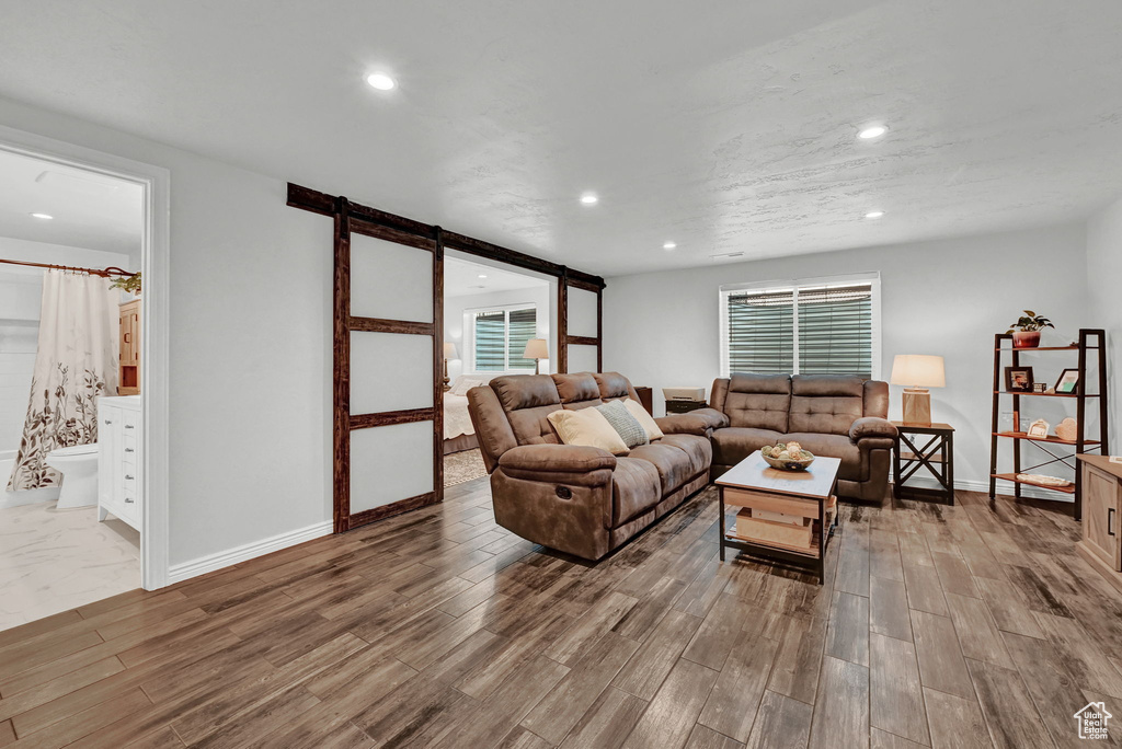
[[[1100,574],[1122,590],[1122,463],[1100,455],[1080,455],[1083,471],[1083,539],[1079,553]]]

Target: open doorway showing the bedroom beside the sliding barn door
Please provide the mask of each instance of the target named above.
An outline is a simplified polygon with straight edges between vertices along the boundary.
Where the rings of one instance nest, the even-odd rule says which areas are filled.
[[[467,391],[557,362],[557,279],[498,261],[444,256],[444,487],[487,474]]]

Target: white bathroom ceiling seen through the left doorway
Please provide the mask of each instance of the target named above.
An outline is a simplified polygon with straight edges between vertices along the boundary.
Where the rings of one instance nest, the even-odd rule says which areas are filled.
[[[139,259],[142,222],[139,185],[0,150],[0,237]]]

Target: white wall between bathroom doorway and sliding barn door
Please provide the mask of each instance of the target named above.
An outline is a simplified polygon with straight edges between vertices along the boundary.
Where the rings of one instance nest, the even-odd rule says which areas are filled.
[[[171,172],[171,564],[330,521],[331,220],[89,122],[0,99],[0,124]]]

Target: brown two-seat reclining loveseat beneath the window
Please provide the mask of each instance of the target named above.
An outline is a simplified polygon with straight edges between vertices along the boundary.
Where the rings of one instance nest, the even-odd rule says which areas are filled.
[[[729,419],[712,432],[714,479],[764,445],[794,440],[815,455],[842,460],[839,496],[884,498],[896,444],[896,427],[885,418],[888,382],[737,372],[714,381],[709,404]]]

